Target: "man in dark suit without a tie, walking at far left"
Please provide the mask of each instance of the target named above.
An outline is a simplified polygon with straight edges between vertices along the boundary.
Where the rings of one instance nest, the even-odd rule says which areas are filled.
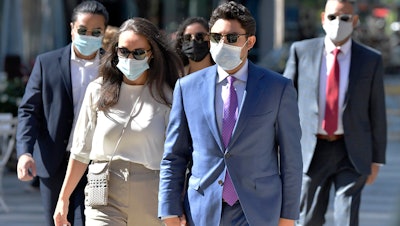
[[[38,175],[46,224],[53,212],[69,158],[70,135],[87,84],[97,76],[108,12],[85,1],[72,15],[72,44],[37,57],[18,111],[18,178]],[[70,199],[68,220],[84,225],[85,177]]]

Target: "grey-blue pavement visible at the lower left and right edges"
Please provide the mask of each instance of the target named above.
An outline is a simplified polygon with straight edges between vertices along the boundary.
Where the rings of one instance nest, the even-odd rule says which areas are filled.
[[[400,75],[385,78],[388,113],[387,164],[373,185],[364,189],[360,226],[399,226],[400,218]],[[0,226],[43,226],[43,207],[39,192],[28,192],[28,182],[18,181],[15,172],[7,171],[3,196],[10,211],[0,209]],[[332,224],[332,206],[327,223]]]

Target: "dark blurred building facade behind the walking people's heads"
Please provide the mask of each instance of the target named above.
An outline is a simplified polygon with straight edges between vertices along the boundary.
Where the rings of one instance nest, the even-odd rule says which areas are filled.
[[[0,71],[7,56],[19,56],[31,67],[36,55],[70,42],[72,9],[82,0],[0,1]],[[224,0],[99,0],[110,13],[110,25],[144,17],[167,33],[191,16],[210,17]],[[262,62],[273,50],[295,40],[321,35],[320,12],[326,0],[239,0],[257,21],[257,42],[249,56]],[[378,0],[358,0],[367,7]],[[277,58],[276,56],[273,56]],[[278,56],[279,58],[279,56]],[[276,64],[276,63],[274,63]],[[280,63],[282,64],[282,62]],[[281,66],[280,66],[281,67]]]

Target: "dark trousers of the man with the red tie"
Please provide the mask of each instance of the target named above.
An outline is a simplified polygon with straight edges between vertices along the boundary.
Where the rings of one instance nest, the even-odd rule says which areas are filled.
[[[313,160],[303,176],[300,219],[296,225],[322,226],[334,185],[334,224],[358,226],[361,192],[367,176],[360,175],[348,158],[343,139],[318,139]]]

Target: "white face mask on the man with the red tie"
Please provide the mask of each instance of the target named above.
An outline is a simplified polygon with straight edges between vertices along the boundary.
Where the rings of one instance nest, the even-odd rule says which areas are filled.
[[[325,18],[322,27],[326,35],[332,42],[341,42],[348,38],[353,32],[353,22],[344,22],[339,18],[328,20]]]

